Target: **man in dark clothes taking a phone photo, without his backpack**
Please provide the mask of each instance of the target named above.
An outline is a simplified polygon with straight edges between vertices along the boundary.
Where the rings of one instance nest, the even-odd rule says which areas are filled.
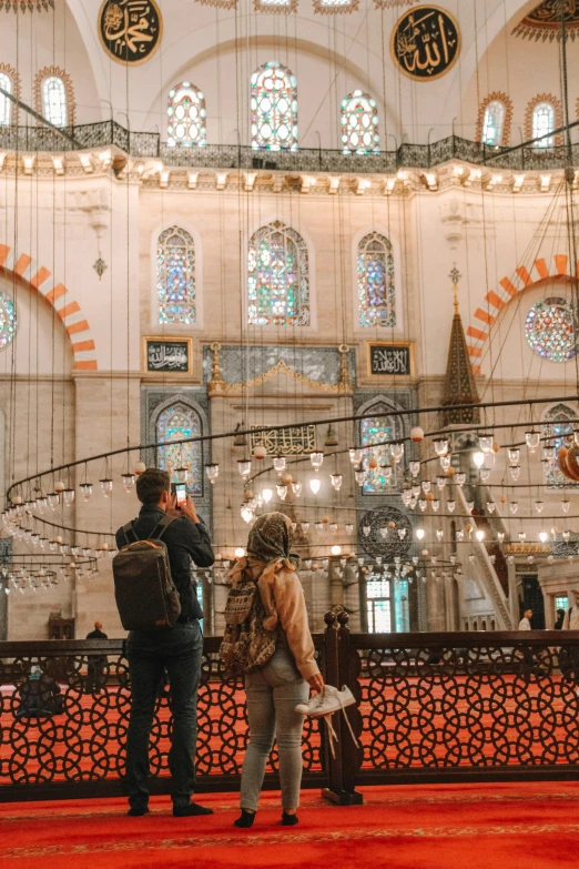
[[[181,615],[173,627],[160,630],[131,630],[126,645],[131,676],[131,717],[126,736],[126,778],[129,815],[149,812],[149,737],[159,685],[166,670],[171,686],[172,732],[169,767],[172,777],[173,815],[212,815],[212,810],[191,801],[195,775],[197,738],[197,688],[201,676],[203,637],[199,619],[203,617],[191,580],[191,562],[211,567],[214,557],[211,540],[187,497],[180,509],[171,496],[169,474],[148,468],[136,481],[141,504],[133,531],[148,539],[165,514],[173,517],[163,534],[171,576],[179,592]],[[122,528],[116,546],[129,540]]]

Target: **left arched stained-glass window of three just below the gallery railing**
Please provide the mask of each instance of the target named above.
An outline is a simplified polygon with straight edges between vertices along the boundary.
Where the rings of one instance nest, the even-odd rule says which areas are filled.
[[[195,243],[181,226],[170,226],[156,246],[159,323],[195,323]]]

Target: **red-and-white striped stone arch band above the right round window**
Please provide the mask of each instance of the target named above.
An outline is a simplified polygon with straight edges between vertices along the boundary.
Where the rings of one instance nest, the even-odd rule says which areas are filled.
[[[500,311],[510,300],[531,284],[549,277],[579,277],[579,262],[575,263],[575,274],[569,270],[569,256],[556,253],[550,257],[540,256],[530,266],[519,265],[515,274],[501,277],[497,290],[490,290],[485,296],[486,309],[477,307],[473,322],[466,331],[467,350],[473,365],[473,372],[480,374],[480,358],[485,344],[489,340],[490,329],[496,323]],[[571,266],[572,267],[572,266]]]

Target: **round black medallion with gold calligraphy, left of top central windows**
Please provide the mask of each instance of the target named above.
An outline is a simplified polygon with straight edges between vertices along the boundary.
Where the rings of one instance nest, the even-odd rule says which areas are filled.
[[[156,51],[163,20],[154,0],[104,0],[99,12],[99,37],[119,63],[144,63]]]

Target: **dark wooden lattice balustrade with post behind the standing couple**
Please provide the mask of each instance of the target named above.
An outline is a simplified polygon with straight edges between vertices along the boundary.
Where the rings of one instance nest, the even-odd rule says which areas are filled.
[[[304,727],[304,787],[359,802],[357,785],[561,779],[579,775],[579,631],[351,634],[326,616],[314,641],[328,684],[357,705],[333,758],[317,721]],[[197,790],[238,789],[247,739],[241,680],[222,673],[220,638],[204,641]],[[91,664],[89,671],[89,663]],[[30,715],[30,670],[45,683]],[[0,799],[122,792],[130,680],[122,640],[0,643]],[[169,694],[159,686],[151,736],[154,794],[169,784]],[[276,787],[276,751],[266,787]]]

